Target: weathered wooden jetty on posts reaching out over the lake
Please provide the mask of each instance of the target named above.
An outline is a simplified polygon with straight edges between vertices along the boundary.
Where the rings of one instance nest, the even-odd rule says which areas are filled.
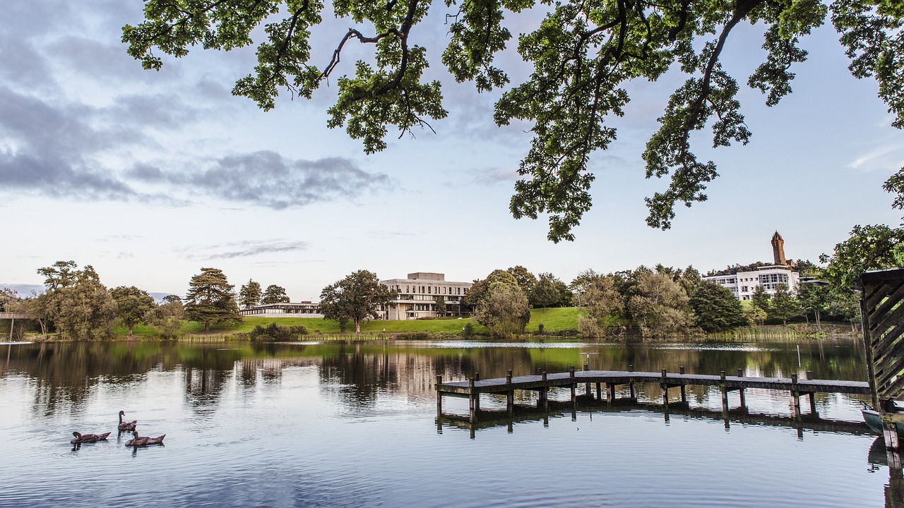
[[[728,393],[729,391],[739,390],[741,406],[745,406],[744,390],[749,388],[759,388],[767,390],[783,390],[791,395],[794,406],[794,416],[799,418],[800,397],[801,395],[810,396],[810,410],[815,413],[815,393],[847,393],[856,395],[869,395],[870,385],[864,381],[834,381],[834,380],[814,380],[810,372],[807,372],[808,379],[798,379],[796,374],[792,374],[790,378],[759,378],[741,375],[738,371],[737,376],[726,376],[725,372],[720,375],[711,374],[688,374],[681,367],[680,372],[633,372],[633,368],[627,371],[578,371],[571,368],[569,372],[541,372],[540,374],[527,376],[513,376],[512,371],[504,378],[496,378],[490,380],[481,380],[480,374],[475,372],[474,377],[467,381],[448,381],[443,382],[442,376],[437,376],[437,414],[442,414],[443,397],[465,397],[469,400],[470,419],[475,420],[476,414],[480,410],[480,394],[481,393],[505,393],[507,395],[507,409],[509,414],[513,412],[514,390],[534,390],[538,392],[537,406],[543,409],[549,409],[548,394],[551,388],[567,387],[571,389],[571,401],[577,400],[577,387],[580,384],[586,385],[586,392],[590,394],[591,385],[596,384],[597,400],[602,400],[602,387],[606,386],[606,400],[613,402],[616,400],[616,389],[618,386],[629,385],[631,390],[631,398],[634,398],[634,384],[641,383],[658,383],[663,393],[663,406],[668,410],[670,388],[680,388],[682,402],[687,402],[684,387],[687,385],[698,386],[718,386],[722,394],[722,410],[729,409]]]

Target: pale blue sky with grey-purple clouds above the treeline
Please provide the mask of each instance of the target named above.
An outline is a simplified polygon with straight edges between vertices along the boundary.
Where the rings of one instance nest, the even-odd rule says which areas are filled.
[[[709,201],[679,204],[671,230],[645,223],[644,197],[668,181],[646,180],[641,154],[684,78],[630,83],[626,116],[607,120],[617,141],[589,163],[593,208],[576,240],[554,244],[545,218],[508,211],[531,126],[495,127],[499,92],[478,94],[443,68],[443,3],[411,40],[428,48],[448,118],[413,138],[391,128],[376,155],[326,127],[334,83],[311,100],[283,95],[268,112],[231,96],[254,66],[254,46],[194,48],[144,71],[120,42],[121,27],[142,20],[139,0],[9,4],[0,17],[0,287],[40,285],[37,268],[71,259],[107,287],[184,296],[212,267],[237,290],[253,279],[317,301],[358,269],[468,281],[523,265],[565,282],[588,268],[657,263],[706,272],[771,260],[776,230],[788,259],[816,261],[855,224],[901,221],[881,185],[904,165],[904,133],[890,127],[876,82],[847,71],[831,24],[802,40],[809,59],[776,107],[742,86],[749,145],[713,150],[709,130],[692,137],[720,177]],[[539,15],[513,16],[511,31],[530,31]],[[353,25],[330,19],[315,30],[321,66]],[[726,44],[722,61],[739,83],[764,58],[761,31],[739,26]],[[372,51],[346,48],[335,77]],[[529,76],[511,49],[500,61],[513,83]]]

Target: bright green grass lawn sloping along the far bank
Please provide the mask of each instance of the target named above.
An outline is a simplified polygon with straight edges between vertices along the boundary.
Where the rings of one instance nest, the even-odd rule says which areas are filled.
[[[379,334],[384,330],[388,334],[407,333],[407,332],[429,332],[431,334],[461,334],[462,328],[466,323],[470,322],[474,326],[476,334],[486,332],[486,327],[478,325],[470,319],[416,319],[412,321],[365,321],[361,324],[362,334]],[[246,316],[244,322],[232,326],[215,326],[211,325],[211,334],[247,334],[257,325],[269,325],[277,323],[285,326],[304,325],[309,334],[338,334],[339,324],[332,320],[321,319],[318,317],[258,317]],[[536,332],[540,324],[543,324],[543,331],[546,333],[555,333],[559,330],[575,330],[578,328],[578,308],[577,307],[561,307],[531,310],[531,321],[527,324],[527,332]],[[203,323],[195,323],[190,321],[185,323],[181,332],[183,334],[203,334]],[[127,335],[128,330],[125,327],[117,326],[113,330],[114,334]],[[153,336],[157,331],[152,326],[135,325],[132,331],[137,336]],[[345,333],[354,333],[354,324],[349,323]]]

